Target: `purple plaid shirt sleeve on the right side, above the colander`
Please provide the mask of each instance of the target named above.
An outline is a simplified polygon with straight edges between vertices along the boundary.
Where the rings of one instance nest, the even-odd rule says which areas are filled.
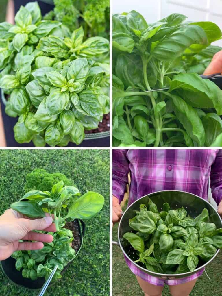
[[[210,171],[210,188],[217,205],[222,199],[222,150],[219,150]]]

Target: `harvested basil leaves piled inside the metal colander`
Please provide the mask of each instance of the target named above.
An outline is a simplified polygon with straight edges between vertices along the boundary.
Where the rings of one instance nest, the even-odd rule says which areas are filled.
[[[184,207],[172,210],[168,203],[158,212],[149,200],[129,219],[129,226],[133,232],[126,232],[123,238],[137,252],[134,262],[161,274],[194,271],[222,248],[222,229],[209,222],[207,209],[192,218]]]

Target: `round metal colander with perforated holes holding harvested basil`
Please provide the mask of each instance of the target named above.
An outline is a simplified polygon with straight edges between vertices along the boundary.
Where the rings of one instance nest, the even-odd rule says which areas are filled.
[[[178,279],[178,278],[184,278],[187,276],[191,276],[192,274],[196,273],[201,268],[205,267],[207,264],[212,261],[215,256],[218,254],[219,250],[215,253],[215,255],[207,262],[201,262],[199,258],[198,267],[194,271],[186,272],[183,274],[160,274],[153,271],[148,271],[147,269],[141,267],[137,263],[134,263],[135,260],[137,260],[139,257],[137,255],[137,252],[133,249],[131,244],[126,240],[123,239],[123,235],[126,232],[136,232],[129,226],[129,219],[133,218],[136,214],[135,210],[140,210],[140,205],[145,204],[148,205],[149,198],[157,205],[158,211],[160,212],[163,210],[163,204],[164,202],[168,202],[171,209],[176,210],[177,208],[184,207],[187,211],[187,214],[191,216],[192,218],[195,218],[198,216],[204,208],[206,208],[209,212],[209,218],[210,222],[215,223],[216,228],[222,228],[221,218],[218,215],[217,211],[214,209],[214,207],[207,202],[206,200],[200,198],[199,196],[195,194],[191,194],[188,192],[183,191],[176,191],[176,190],[166,190],[166,191],[159,191],[154,192],[148,195],[145,195],[144,197],[141,197],[140,199],[136,200],[131,204],[128,209],[123,213],[118,227],[118,242],[113,242],[113,244],[118,244],[124,255],[140,270],[144,271],[145,273],[155,276],[161,279]]]

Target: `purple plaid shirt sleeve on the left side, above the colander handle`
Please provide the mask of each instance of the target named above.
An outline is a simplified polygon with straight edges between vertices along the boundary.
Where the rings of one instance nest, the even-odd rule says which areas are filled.
[[[128,150],[112,150],[112,194],[118,198],[119,203],[123,200],[128,183],[129,161],[126,153]]]

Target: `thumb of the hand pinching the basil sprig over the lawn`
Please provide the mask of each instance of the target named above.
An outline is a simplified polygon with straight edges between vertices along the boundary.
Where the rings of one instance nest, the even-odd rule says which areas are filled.
[[[18,224],[22,226],[23,229],[28,233],[31,230],[43,230],[49,227],[52,224],[51,217],[44,217],[41,219],[18,219]]]

